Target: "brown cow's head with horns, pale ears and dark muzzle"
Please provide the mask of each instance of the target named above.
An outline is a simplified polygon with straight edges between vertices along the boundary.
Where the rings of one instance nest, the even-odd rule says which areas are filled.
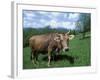
[[[69,50],[69,40],[74,38],[74,35],[69,35],[69,33],[59,34],[63,51]]]

